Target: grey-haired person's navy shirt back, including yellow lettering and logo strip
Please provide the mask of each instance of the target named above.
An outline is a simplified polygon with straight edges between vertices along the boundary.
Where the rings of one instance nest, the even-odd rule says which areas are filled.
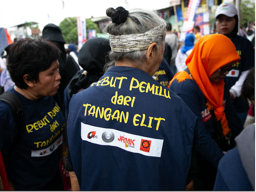
[[[184,190],[195,116],[145,72],[134,68],[119,72],[122,68],[110,68],[98,83],[70,100],[67,127],[81,125],[81,131],[67,130],[69,140],[82,137],[69,142],[81,189]],[[163,103],[165,108],[159,108]],[[183,114],[186,118],[180,121]]]

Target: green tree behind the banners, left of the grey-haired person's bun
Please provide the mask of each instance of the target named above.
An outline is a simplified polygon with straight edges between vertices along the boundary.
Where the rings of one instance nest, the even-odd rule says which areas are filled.
[[[98,25],[91,21],[91,19],[85,19],[86,22],[86,37],[88,39],[88,30],[96,30],[97,33],[100,32],[98,29]],[[78,35],[77,35],[77,22],[76,17],[69,17],[65,18],[59,24],[59,28],[61,28],[62,35],[67,43],[71,41],[77,42]]]

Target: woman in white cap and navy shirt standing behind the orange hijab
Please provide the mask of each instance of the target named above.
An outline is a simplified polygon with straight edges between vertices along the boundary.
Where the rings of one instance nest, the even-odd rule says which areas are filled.
[[[238,13],[236,6],[231,3],[222,3],[215,12],[216,31],[226,35],[236,46],[236,51],[241,59],[226,75],[226,84],[230,89],[230,98],[234,99],[233,105],[237,115],[244,124],[249,105],[241,98],[241,86],[250,68],[254,66],[254,48],[252,43],[245,37],[237,35]]]

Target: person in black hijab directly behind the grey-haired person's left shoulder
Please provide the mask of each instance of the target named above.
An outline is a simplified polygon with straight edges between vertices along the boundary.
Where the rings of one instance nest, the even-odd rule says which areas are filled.
[[[107,54],[110,51],[109,40],[102,37],[89,39],[83,44],[78,54],[78,61],[83,67],[70,80],[64,90],[65,114],[69,109],[69,101],[73,94],[86,89],[98,81],[104,74],[103,68],[108,61]]]

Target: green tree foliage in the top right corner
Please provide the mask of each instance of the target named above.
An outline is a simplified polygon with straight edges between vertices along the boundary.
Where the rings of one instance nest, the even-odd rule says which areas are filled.
[[[240,5],[240,26],[247,24],[248,21],[255,21],[255,3],[250,0],[242,0]]]

